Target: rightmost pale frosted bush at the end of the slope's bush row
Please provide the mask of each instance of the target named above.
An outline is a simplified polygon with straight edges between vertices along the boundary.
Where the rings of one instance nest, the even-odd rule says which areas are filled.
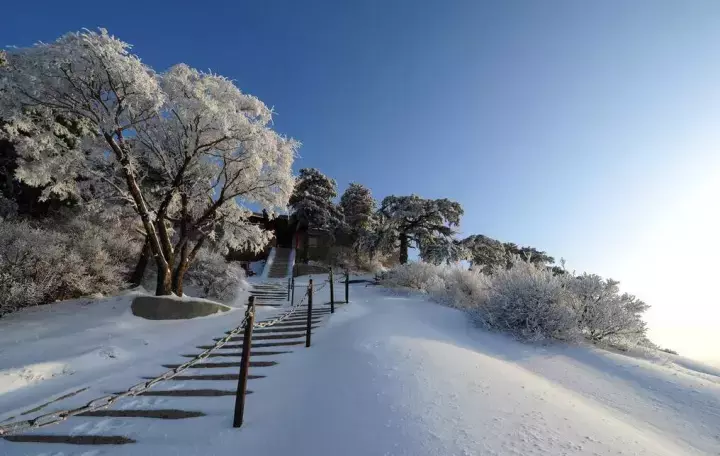
[[[634,341],[645,336],[641,314],[650,306],[633,295],[621,294],[618,284],[595,274],[567,279],[568,288],[577,296],[577,325],[594,342],[606,338]]]

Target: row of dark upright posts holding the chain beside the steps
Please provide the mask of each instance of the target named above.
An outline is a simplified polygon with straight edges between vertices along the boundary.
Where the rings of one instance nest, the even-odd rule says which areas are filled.
[[[330,269],[330,313],[335,313],[335,281],[333,271]],[[308,282],[307,289],[308,312],[307,324],[305,329],[305,346],[310,347],[312,338],[312,306],[313,306],[313,280]],[[290,305],[295,305],[295,274],[288,279],[288,301]],[[345,272],[345,304],[350,302],[350,273]],[[237,392],[235,393],[235,414],[233,417],[233,427],[239,428],[243,423],[243,415],[245,413],[245,396],[247,393],[247,379],[250,370],[250,349],[252,348],[252,330],[255,324],[255,296],[250,296],[247,309],[245,309],[245,331],[243,333],[242,358],[240,361],[240,376],[238,377]]]

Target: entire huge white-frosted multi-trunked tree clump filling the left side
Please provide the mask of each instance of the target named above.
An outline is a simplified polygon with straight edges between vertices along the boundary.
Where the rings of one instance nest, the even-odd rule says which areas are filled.
[[[157,75],[105,30],[8,52],[0,91],[5,134],[23,160],[17,177],[58,195],[102,184],[127,201],[155,259],[158,294],[171,292],[173,276],[181,292],[207,237],[267,240],[238,203],[283,206],[289,196],[298,144],[269,129],[260,100],[184,65]],[[62,140],[70,131],[58,115],[88,132],[82,147]],[[144,186],[148,176],[160,180]]]

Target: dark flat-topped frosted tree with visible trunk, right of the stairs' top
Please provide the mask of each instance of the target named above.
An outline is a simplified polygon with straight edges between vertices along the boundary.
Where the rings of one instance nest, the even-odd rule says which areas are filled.
[[[382,237],[400,249],[400,263],[408,261],[408,249],[434,245],[454,235],[463,209],[449,199],[424,199],[417,195],[388,196],[380,206]]]

